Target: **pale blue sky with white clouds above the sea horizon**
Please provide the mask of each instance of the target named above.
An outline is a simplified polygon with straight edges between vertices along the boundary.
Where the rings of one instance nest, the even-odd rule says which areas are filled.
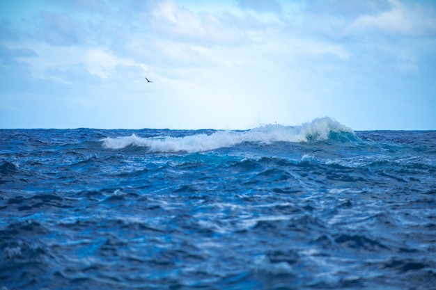
[[[325,116],[436,129],[436,1],[0,0],[0,128]]]

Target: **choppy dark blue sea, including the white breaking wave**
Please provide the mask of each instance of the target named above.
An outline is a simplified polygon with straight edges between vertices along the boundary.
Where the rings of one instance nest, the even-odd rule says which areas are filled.
[[[436,131],[0,130],[0,289],[436,289]]]

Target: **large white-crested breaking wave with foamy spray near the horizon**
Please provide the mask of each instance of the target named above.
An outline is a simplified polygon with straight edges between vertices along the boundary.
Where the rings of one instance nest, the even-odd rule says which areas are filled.
[[[267,124],[247,131],[215,131],[212,134],[196,134],[184,137],[159,136],[141,138],[135,134],[116,138],[103,138],[103,147],[123,149],[129,146],[147,147],[149,152],[205,152],[241,143],[270,144],[273,142],[313,143],[325,140],[355,140],[352,129],[332,120],[318,118],[301,126]]]

